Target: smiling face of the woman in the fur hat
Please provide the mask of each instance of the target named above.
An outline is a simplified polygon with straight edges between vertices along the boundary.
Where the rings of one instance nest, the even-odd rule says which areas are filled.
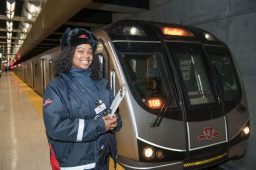
[[[93,61],[93,48],[90,44],[81,44],[76,47],[73,67],[87,69]]]

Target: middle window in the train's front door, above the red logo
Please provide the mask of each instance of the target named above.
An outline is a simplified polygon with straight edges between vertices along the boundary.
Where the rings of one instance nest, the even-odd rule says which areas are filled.
[[[201,45],[177,42],[167,45],[178,64],[190,105],[215,103]]]

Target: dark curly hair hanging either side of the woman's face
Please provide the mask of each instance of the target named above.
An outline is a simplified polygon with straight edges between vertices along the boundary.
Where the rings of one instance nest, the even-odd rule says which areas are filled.
[[[72,68],[75,49],[76,46],[67,46],[53,59],[53,71],[55,77],[60,73],[67,74]],[[93,80],[99,80],[102,77],[102,70],[99,58],[95,54],[93,54],[93,61],[90,68],[92,70],[91,78]]]

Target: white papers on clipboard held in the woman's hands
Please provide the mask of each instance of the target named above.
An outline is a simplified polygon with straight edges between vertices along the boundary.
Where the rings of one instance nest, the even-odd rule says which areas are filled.
[[[111,116],[113,116],[113,114],[115,114],[118,106],[120,105],[120,103],[123,100],[123,97],[125,95],[127,91],[127,85],[125,83],[122,84],[122,87],[119,89],[118,93],[116,94],[116,97],[114,99],[114,101],[112,102],[109,110],[111,111]]]

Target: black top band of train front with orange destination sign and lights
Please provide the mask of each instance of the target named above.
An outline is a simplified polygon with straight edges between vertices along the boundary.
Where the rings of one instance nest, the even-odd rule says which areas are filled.
[[[104,30],[112,41],[161,41],[165,39],[224,45],[223,41],[203,29],[174,23],[120,20],[100,30]]]

